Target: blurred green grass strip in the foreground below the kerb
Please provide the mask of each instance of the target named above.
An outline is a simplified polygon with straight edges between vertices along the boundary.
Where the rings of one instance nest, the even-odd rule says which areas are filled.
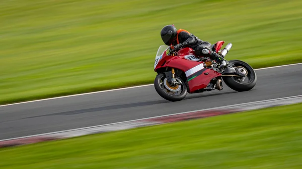
[[[0,149],[0,168],[301,168],[301,104]]]

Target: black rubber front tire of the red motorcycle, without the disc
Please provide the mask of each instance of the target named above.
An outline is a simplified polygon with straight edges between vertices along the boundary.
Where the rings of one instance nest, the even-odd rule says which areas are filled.
[[[160,96],[162,96],[164,99],[169,100],[169,101],[180,101],[180,100],[184,99],[187,95],[187,87],[186,87],[184,81],[181,78],[179,78],[182,82],[182,84],[180,84],[180,86],[181,86],[180,94],[171,95],[171,94],[168,94],[166,91],[164,91],[165,90],[163,88],[164,85],[161,84],[161,82],[164,81],[165,78],[166,78],[166,76],[164,74],[159,74],[156,76],[156,78],[154,80],[154,87],[155,87],[155,90],[158,92],[158,94]]]

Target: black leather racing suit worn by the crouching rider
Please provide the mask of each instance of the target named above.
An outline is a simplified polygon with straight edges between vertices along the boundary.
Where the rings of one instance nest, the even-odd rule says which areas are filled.
[[[202,41],[193,34],[182,31],[178,34],[178,40],[180,44],[182,43],[184,45],[184,47],[192,48],[198,56],[204,55],[202,53],[203,49],[208,49],[210,51],[210,54],[208,54],[209,58],[215,61],[217,61],[219,58],[223,60],[221,56],[213,51],[213,46],[209,42]],[[177,45],[176,39],[173,41],[172,45]]]

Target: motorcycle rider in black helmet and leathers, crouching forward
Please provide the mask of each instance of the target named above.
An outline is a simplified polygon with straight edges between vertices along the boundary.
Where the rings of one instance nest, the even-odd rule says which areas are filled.
[[[212,50],[213,46],[209,42],[198,39],[198,37],[186,30],[179,29],[177,31],[174,25],[167,25],[161,31],[161,37],[166,45],[175,46],[176,51],[189,47],[192,48],[198,56],[204,54],[212,60],[215,60],[220,65],[219,69],[226,66],[223,57]]]

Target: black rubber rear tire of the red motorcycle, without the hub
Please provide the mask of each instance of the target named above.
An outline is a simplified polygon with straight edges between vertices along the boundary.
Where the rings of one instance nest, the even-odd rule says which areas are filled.
[[[234,64],[235,67],[242,66],[244,67],[248,74],[246,77],[249,77],[249,81],[247,83],[242,83],[236,80],[234,77],[231,76],[222,76],[222,79],[226,85],[228,85],[231,89],[236,90],[238,92],[248,91],[255,87],[257,82],[257,75],[254,69],[247,63],[240,61],[240,60],[231,60],[230,63]]]

